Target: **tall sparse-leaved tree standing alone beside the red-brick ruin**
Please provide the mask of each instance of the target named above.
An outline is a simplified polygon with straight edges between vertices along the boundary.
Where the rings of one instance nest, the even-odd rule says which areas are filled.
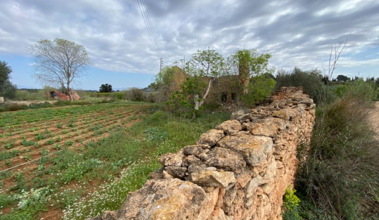
[[[63,87],[70,101],[73,101],[71,86],[80,83],[90,64],[85,48],[75,42],[56,38],[54,41],[40,40],[28,47],[27,51],[34,56],[33,77],[41,83]]]

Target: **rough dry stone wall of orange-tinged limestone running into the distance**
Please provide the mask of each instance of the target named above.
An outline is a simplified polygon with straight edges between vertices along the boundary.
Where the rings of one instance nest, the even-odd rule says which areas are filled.
[[[268,106],[161,156],[163,168],[130,193],[118,211],[91,219],[282,219],[282,197],[298,164],[296,148],[309,141],[315,104],[293,87],[277,94],[281,97]]]

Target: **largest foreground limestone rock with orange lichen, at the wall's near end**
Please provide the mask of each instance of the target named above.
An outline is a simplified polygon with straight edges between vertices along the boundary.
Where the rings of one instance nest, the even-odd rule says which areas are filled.
[[[122,204],[118,220],[197,219],[204,190],[179,179],[153,179]]]

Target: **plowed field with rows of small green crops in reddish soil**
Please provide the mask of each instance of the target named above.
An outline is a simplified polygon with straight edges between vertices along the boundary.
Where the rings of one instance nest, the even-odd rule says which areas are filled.
[[[106,103],[17,111],[0,114],[0,173],[3,190],[14,185],[14,173],[34,169],[35,162],[63,148],[83,150],[83,144],[132,125],[146,105]]]

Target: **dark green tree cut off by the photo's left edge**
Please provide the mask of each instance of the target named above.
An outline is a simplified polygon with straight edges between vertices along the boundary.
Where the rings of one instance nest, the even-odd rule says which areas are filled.
[[[0,61],[0,96],[5,98],[14,98],[16,95],[16,85],[12,84],[11,67],[5,61]]]

